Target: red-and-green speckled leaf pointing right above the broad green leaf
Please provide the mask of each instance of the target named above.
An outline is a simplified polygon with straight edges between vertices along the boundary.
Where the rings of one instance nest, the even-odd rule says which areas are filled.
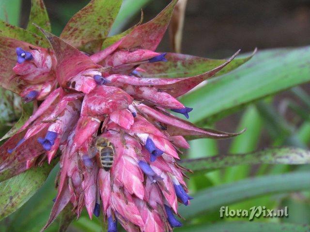
[[[238,68],[252,58],[255,53],[256,49],[248,57],[234,59],[229,66],[223,68],[216,76]],[[209,59],[177,53],[167,53],[166,58],[168,62],[142,64],[140,68],[145,72],[140,72],[140,75],[149,78],[189,77],[205,73],[225,62],[225,59]]]

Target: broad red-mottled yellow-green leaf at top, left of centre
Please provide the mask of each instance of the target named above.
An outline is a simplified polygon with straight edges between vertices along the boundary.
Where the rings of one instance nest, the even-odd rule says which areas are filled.
[[[79,50],[99,51],[121,4],[122,0],[92,0],[69,20],[61,38]]]

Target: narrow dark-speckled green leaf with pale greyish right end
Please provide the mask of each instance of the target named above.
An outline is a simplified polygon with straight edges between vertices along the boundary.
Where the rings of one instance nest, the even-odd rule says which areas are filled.
[[[179,163],[194,172],[210,171],[239,164],[308,164],[310,163],[310,151],[294,147],[270,148],[248,154],[219,155],[201,159],[182,160]]]

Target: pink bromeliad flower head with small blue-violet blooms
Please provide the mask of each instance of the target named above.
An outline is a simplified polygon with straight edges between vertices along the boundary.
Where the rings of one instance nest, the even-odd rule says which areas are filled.
[[[171,58],[185,61],[154,51],[175,3],[91,54],[44,29],[50,48],[0,37],[1,60],[10,61],[0,66],[1,85],[25,102],[39,103],[2,145],[0,172],[18,174],[44,160],[50,163],[60,151],[58,194],[45,228],[71,203],[78,217],[84,206],[90,218],[102,211],[109,232],[117,231],[117,222],[128,232],[171,231],[182,225],[178,202],[187,205],[192,199],[184,181],[188,170],[177,162],[180,149],[189,148],[186,138],[236,135],[198,128],[170,113],[188,118],[192,108],[177,97],[236,54],[193,77],[143,77],[153,68],[160,76],[174,65]]]

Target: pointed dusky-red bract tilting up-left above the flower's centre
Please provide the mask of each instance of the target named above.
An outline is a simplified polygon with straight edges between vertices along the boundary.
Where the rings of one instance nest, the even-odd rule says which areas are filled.
[[[56,76],[58,83],[65,87],[68,80],[78,73],[98,68],[92,59],[78,49],[64,42],[61,38],[41,29],[53,47],[57,58]]]

